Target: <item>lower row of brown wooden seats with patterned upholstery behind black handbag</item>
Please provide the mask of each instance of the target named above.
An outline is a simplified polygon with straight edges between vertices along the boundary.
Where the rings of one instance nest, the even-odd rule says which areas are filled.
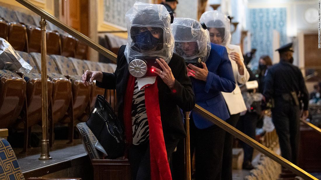
[[[13,127],[25,130],[25,145],[31,127],[41,123],[41,54],[18,51],[33,69],[18,74],[0,70],[0,128]],[[48,119],[50,141],[56,123],[68,124],[69,139],[73,138],[73,126],[86,121],[97,94],[104,90],[97,86],[84,86],[82,70],[114,72],[115,64],[97,63],[60,55],[47,55]],[[108,101],[115,105],[114,92],[108,91]],[[20,118],[18,116],[20,115]],[[18,120],[17,120],[18,119]]]

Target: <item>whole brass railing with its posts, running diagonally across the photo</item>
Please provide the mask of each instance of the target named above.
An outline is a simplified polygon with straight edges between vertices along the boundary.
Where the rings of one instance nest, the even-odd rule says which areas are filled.
[[[41,37],[41,42],[42,42],[42,47],[41,47],[41,75],[42,77],[47,77],[47,72],[45,69],[46,68],[46,36],[45,36],[45,31],[46,31],[46,20],[48,20],[49,22],[53,23],[54,25],[56,25],[57,27],[61,28],[62,30],[64,30],[65,32],[69,33],[70,35],[73,35],[75,38],[79,39],[81,42],[87,44],[89,47],[91,47],[92,49],[100,52],[101,54],[103,54],[104,56],[106,56],[107,58],[109,58],[110,60],[116,62],[116,58],[117,56],[112,53],[111,51],[108,51],[106,48],[102,47],[101,45],[99,45],[98,43],[92,41],[90,38],[88,38],[87,36],[81,34],[80,32],[76,31],[75,29],[73,29],[72,27],[66,25],[65,23],[63,23],[62,21],[58,20],[57,18],[55,18],[54,16],[52,16],[51,14],[49,14],[48,12],[40,9],[39,7],[37,7],[36,5],[30,3],[27,0],[16,0],[17,2],[19,2],[20,4],[24,5],[25,7],[27,7],[28,9],[30,9],[31,11],[35,12],[36,14],[38,14],[39,16],[41,16],[41,21],[40,24],[42,25],[42,37]],[[45,78],[43,78],[45,79]],[[39,158],[39,159],[48,159],[51,158],[49,155],[49,149],[48,149],[48,99],[47,99],[47,82],[42,81],[42,101],[43,101],[43,107],[42,107],[42,111],[43,111],[43,141],[46,143],[45,146],[42,146],[42,154],[41,157],[46,157],[46,158]],[[298,176],[304,178],[304,179],[313,179],[313,180],[317,180],[317,178],[315,178],[314,176],[308,174],[307,172],[305,172],[304,170],[302,170],[301,168],[297,167],[296,165],[292,164],[290,161],[282,158],[280,155],[274,153],[273,151],[271,151],[270,149],[268,149],[267,147],[265,147],[264,145],[261,145],[260,143],[256,142],[254,139],[248,137],[247,135],[245,135],[244,133],[240,132],[238,129],[234,128],[233,126],[231,126],[230,124],[226,123],[225,121],[221,120],[220,118],[216,117],[215,115],[213,115],[212,113],[206,111],[205,109],[203,109],[202,107],[195,105],[194,108],[195,112],[199,112],[201,113],[205,118],[207,118],[209,121],[213,122],[214,124],[216,124],[217,126],[221,127],[222,129],[224,129],[225,131],[227,131],[228,133],[232,134],[233,136],[239,138],[240,140],[244,141],[245,143],[247,143],[248,145],[252,146],[254,149],[260,151],[261,153],[265,154],[266,156],[268,156],[269,158],[275,160],[276,162],[278,162],[279,164],[281,164],[282,166],[291,169],[295,174],[297,174]],[[189,120],[188,117],[188,113],[185,113],[186,115],[186,119],[187,121]],[[188,131],[188,123],[186,124],[186,129]],[[188,140],[188,139],[186,139]],[[188,143],[187,143],[188,144]],[[189,151],[189,148],[186,147],[186,151]],[[186,153],[189,154],[189,153]],[[190,163],[188,163],[190,161],[190,158],[187,157],[186,158],[186,168],[188,168],[190,170]],[[190,172],[187,172],[186,174],[186,179],[190,180]]]

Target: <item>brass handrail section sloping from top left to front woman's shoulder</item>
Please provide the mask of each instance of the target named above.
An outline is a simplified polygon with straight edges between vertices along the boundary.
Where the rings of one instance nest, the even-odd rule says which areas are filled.
[[[65,32],[67,32],[70,35],[74,36],[75,38],[79,39],[81,42],[87,44],[92,49],[100,52],[102,55],[106,56],[110,60],[116,62],[116,58],[117,58],[116,54],[114,54],[111,51],[107,50],[106,48],[104,48],[103,46],[99,45],[98,43],[94,42],[89,37],[81,34],[80,32],[76,31],[74,28],[66,25],[62,21],[58,20],[56,17],[52,16],[48,12],[42,10],[41,8],[39,8],[38,6],[30,3],[27,0],[16,0],[16,1],[18,3],[24,5],[25,7],[27,7],[32,12],[35,12],[39,16],[43,17],[45,20],[48,20],[49,22],[51,22],[52,24],[54,24],[57,27],[61,28]]]

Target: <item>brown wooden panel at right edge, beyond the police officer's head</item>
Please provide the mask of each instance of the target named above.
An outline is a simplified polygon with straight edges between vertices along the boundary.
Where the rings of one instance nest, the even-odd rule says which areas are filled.
[[[321,68],[321,49],[318,49],[318,35],[304,35],[304,65],[306,68]]]

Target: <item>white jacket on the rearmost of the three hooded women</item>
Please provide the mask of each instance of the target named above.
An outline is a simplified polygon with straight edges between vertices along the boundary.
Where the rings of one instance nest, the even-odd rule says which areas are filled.
[[[232,69],[233,69],[233,74],[235,79],[235,89],[233,90],[233,92],[230,92],[230,93],[222,92],[222,95],[225,99],[227,107],[229,108],[230,114],[232,115],[232,114],[237,114],[247,110],[238,84],[244,84],[245,82],[247,82],[248,79],[250,78],[250,74],[248,73],[243,63],[244,58],[243,58],[240,46],[229,44],[226,47],[226,49],[227,49],[227,53],[229,54],[229,59],[232,63]],[[230,53],[232,52],[236,52],[239,54],[241,61],[243,63],[244,75],[239,74],[238,65],[234,60],[230,58]]]

